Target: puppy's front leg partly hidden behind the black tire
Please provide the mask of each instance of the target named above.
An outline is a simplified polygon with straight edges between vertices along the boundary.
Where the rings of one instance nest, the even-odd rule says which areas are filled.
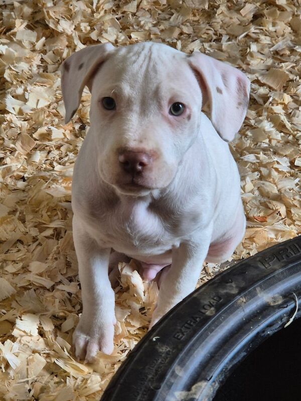
[[[166,274],[163,272],[157,307],[149,329],[195,289],[208,253],[211,232],[208,229],[173,250],[172,266]]]

